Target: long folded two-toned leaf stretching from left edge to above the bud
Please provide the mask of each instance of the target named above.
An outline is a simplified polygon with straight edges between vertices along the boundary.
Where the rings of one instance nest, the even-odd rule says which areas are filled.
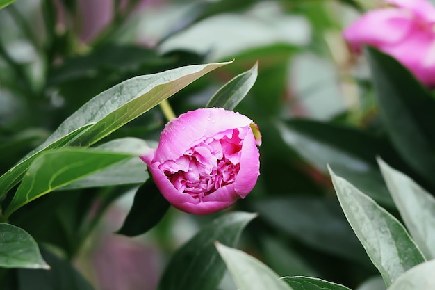
[[[48,148],[90,146],[174,95],[189,83],[228,63],[190,65],[136,76],[97,95],[69,116],[47,140],[0,177],[0,196],[23,177],[31,161]]]

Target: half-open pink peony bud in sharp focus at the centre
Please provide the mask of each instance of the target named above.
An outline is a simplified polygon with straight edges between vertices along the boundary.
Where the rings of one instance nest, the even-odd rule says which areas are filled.
[[[211,214],[245,198],[256,184],[261,137],[252,124],[223,108],[189,111],[167,123],[156,150],[140,158],[174,207]]]

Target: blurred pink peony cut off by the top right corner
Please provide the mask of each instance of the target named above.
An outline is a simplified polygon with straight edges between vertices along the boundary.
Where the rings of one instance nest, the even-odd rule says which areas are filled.
[[[351,49],[371,45],[400,61],[426,86],[435,86],[435,8],[426,0],[386,0],[343,32]]]

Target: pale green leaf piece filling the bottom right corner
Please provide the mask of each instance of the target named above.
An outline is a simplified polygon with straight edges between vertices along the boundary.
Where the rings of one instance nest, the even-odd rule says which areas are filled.
[[[435,289],[435,260],[417,265],[403,275],[388,290],[433,290]]]

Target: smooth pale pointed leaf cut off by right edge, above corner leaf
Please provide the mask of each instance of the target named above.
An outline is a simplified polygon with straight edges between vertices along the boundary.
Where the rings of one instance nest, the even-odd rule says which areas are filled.
[[[378,159],[378,162],[411,236],[426,259],[435,259],[435,198],[382,159]]]

